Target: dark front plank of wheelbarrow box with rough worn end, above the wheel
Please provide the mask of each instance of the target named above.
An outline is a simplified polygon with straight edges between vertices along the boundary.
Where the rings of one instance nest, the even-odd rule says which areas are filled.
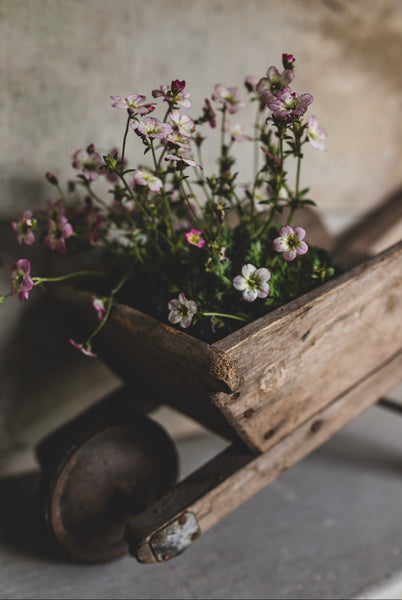
[[[62,287],[58,300],[89,333],[99,323],[92,294]],[[241,379],[230,358],[183,331],[122,304],[116,304],[94,348],[117,372],[159,389],[171,381],[210,391],[234,392]]]

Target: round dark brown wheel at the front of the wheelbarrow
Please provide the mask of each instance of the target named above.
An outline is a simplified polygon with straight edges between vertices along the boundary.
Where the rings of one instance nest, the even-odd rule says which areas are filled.
[[[79,562],[127,554],[127,522],[177,479],[171,438],[150,418],[127,410],[77,419],[44,440],[37,455],[44,528],[64,555]]]

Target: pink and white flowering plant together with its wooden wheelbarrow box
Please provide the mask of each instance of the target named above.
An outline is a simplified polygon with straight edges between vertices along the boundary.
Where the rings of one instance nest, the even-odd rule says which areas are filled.
[[[2,296],[26,301],[35,286],[84,281],[56,291],[80,323],[70,342],[150,397],[242,440],[249,454],[238,470],[255,453],[279,452],[274,476],[392,388],[401,351],[400,245],[341,273],[303,226],[314,204],[301,184],[304,146],[325,150],[326,133],[308,114],[313,97],[293,91],[294,66],[283,54],[280,68],[245,78],[252,132],[236,122],[246,107],[239,90],[223,84],[195,119],[178,79],[153,90],[153,100],[112,96],[126,113],[121,148],[103,156],[93,144],[73,148],[76,180],[65,191],[47,173],[58,199],[13,223],[21,245],[39,238],[77,256],[79,268],[40,277],[28,259],[17,260]],[[208,129],[219,148],[211,174],[202,158]],[[144,151],[135,166],[129,136]],[[251,182],[235,170],[239,143],[253,153]],[[230,464],[228,481],[237,473]],[[188,505],[168,502],[157,524],[131,528],[141,560],[166,560],[152,536]],[[193,534],[211,525],[205,519]]]

